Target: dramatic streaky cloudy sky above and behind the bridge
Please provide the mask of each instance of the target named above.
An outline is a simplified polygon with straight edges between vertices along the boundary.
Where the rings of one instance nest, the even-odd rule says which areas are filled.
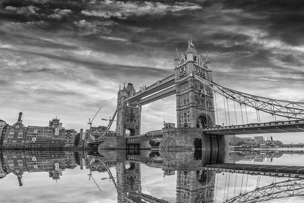
[[[13,124],[21,111],[25,125],[46,126],[58,116],[79,131],[102,107],[93,125],[106,125],[119,86],[173,74],[175,48],[184,53],[189,39],[208,51],[216,83],[304,101],[303,11],[292,0],[2,0],[0,119]],[[143,107],[142,132],[164,115],[176,123],[175,96]]]

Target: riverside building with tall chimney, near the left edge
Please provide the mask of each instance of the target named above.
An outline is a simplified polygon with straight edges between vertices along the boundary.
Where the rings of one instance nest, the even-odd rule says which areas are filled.
[[[5,148],[23,148],[26,137],[27,127],[22,124],[22,112],[19,113],[17,122],[6,128],[3,147]]]

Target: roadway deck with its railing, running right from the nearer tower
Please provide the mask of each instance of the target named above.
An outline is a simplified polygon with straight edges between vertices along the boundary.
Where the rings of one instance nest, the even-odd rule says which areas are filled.
[[[304,132],[304,120],[210,127],[204,128],[203,132],[205,134],[221,134],[223,136],[230,134]]]

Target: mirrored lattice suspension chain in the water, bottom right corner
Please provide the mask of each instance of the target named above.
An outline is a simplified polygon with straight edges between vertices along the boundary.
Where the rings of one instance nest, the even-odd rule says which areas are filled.
[[[304,196],[304,179],[289,179],[256,188],[253,191],[226,199],[224,203],[251,203],[296,196]]]

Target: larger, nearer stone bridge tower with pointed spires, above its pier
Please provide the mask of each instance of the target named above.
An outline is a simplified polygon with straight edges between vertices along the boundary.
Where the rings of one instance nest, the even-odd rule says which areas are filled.
[[[188,41],[185,54],[181,53],[178,56],[176,49],[174,73],[177,127],[203,128],[215,126],[213,91],[193,77],[193,74],[196,74],[212,81],[208,52],[204,63],[192,40]]]

